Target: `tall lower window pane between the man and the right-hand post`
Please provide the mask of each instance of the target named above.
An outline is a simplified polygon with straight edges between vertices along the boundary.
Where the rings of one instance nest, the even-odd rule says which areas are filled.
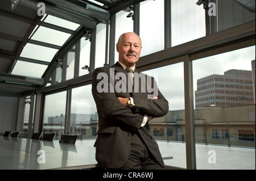
[[[174,157],[164,159],[164,163],[186,168],[183,63],[147,70],[143,73],[155,78],[160,92],[169,102],[167,115],[149,122],[162,157]]]

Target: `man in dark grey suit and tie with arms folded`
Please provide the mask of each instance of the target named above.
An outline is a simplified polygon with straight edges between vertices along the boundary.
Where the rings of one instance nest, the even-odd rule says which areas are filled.
[[[123,33],[117,43],[119,61],[93,73],[92,94],[99,119],[96,160],[104,169],[164,168],[148,121],[166,115],[168,101],[154,78],[135,68],[141,49],[138,35]],[[133,69],[134,74],[127,73],[126,68]],[[127,75],[134,77],[130,83]]]

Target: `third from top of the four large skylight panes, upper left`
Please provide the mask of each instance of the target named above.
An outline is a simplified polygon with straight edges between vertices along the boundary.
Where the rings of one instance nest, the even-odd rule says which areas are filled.
[[[51,62],[57,51],[58,49],[27,43],[22,53],[20,54],[20,57]]]

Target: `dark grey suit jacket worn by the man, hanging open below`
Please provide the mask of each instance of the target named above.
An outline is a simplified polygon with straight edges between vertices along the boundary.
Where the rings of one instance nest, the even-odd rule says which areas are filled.
[[[111,72],[110,68],[112,68],[112,70],[114,68],[114,71]],[[136,69],[134,72],[138,73]],[[125,165],[130,154],[130,133],[133,128],[137,128],[147,148],[155,157],[159,165],[164,167],[158,144],[149,132],[148,123],[144,125],[144,127],[141,127],[141,124],[143,122],[144,114],[153,117],[162,117],[166,115],[168,112],[168,101],[158,89],[158,99],[156,100],[148,99],[148,94],[152,93],[147,92],[147,89],[146,92],[141,92],[141,90],[139,92],[129,92],[126,87],[126,91],[119,92],[115,89],[113,92],[114,86],[119,81],[127,82],[127,78],[124,79],[123,77],[118,77],[118,73],[124,73],[126,75],[125,70],[118,62],[110,67],[97,68],[93,73],[92,94],[96,102],[99,119],[98,136],[95,143],[98,165],[104,168],[113,169],[121,168]],[[114,85],[112,85],[113,83],[110,83],[110,74],[115,75],[115,79],[112,79]],[[97,75],[99,76],[98,79]],[[108,77],[103,78],[101,75],[108,75]],[[121,82],[119,82],[118,85],[120,83]],[[141,83],[140,79],[139,83]],[[154,83],[156,86],[156,82],[153,78],[151,83]],[[99,87],[97,90],[97,86],[99,85],[101,85],[100,88],[108,86],[108,91],[99,92]],[[123,106],[117,99],[118,97],[133,97],[136,108]]]

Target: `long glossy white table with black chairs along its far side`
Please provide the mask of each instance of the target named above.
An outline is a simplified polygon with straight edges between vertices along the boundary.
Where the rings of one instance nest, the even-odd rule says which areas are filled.
[[[96,167],[95,151],[93,146],[63,144],[59,140],[0,136],[0,170],[86,169]]]

